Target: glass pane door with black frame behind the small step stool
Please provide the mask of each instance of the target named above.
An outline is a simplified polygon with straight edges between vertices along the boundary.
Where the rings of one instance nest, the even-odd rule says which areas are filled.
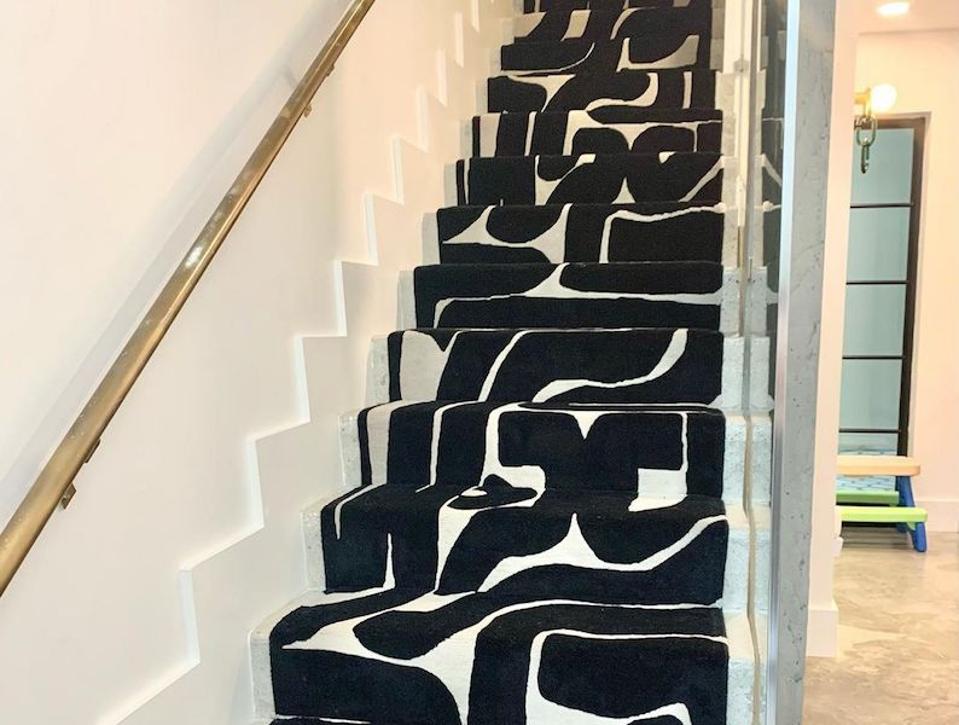
[[[909,447],[923,119],[881,121],[868,172],[853,159],[839,449]]]

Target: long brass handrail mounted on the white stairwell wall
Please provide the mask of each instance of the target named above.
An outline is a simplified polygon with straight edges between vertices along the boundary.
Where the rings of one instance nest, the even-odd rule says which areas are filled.
[[[313,96],[333,71],[374,1],[354,0],[350,5],[0,533],[0,595],[6,591],[57,505],[69,503],[75,493],[73,481],[90,460],[100,436],[183,309],[297,122],[309,114]]]

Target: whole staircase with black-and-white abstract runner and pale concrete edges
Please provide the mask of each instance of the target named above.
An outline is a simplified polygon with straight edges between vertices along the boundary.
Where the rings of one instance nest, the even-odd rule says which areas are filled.
[[[713,14],[513,21],[307,527],[325,591],[261,633],[277,723],[751,721]]]

